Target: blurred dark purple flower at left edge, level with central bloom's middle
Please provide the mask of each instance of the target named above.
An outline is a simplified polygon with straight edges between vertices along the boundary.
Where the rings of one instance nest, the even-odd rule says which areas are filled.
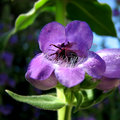
[[[13,61],[13,54],[10,52],[3,52],[1,54],[1,59],[5,62],[5,64],[10,67]]]

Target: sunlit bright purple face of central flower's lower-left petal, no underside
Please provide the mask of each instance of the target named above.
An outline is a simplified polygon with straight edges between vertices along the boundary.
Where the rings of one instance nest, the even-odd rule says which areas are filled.
[[[26,74],[33,79],[45,80],[49,78],[53,70],[52,63],[43,54],[38,54],[31,60]]]

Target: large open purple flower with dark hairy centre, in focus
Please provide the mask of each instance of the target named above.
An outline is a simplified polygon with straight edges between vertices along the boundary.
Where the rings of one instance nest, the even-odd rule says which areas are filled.
[[[30,62],[26,79],[36,88],[46,90],[58,81],[73,87],[84,80],[85,72],[100,78],[105,62],[89,51],[92,42],[93,34],[86,22],[73,21],[66,27],[57,22],[47,24],[38,39],[43,53]]]

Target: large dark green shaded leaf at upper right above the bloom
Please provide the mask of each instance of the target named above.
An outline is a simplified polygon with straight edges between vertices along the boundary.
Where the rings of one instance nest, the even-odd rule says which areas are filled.
[[[86,21],[99,35],[116,36],[112,10],[107,4],[97,0],[70,0],[66,9],[69,19]]]

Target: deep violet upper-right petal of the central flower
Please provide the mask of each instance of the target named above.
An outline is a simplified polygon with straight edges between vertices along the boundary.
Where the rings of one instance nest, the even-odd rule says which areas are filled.
[[[66,28],[67,41],[73,43],[74,50],[79,51],[79,56],[86,56],[93,42],[93,34],[86,22],[73,21]]]

